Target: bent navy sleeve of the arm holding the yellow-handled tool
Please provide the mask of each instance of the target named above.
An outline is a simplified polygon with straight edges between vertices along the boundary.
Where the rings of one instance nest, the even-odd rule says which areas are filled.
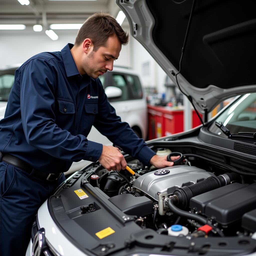
[[[78,162],[96,162],[102,144],[88,141],[84,135],[72,135],[55,123],[57,71],[50,60],[36,58],[20,72],[20,108],[28,144],[51,156]]]

